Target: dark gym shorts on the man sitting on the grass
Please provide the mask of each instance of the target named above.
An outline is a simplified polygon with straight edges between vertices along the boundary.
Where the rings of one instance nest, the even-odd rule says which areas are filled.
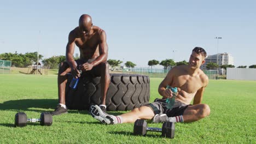
[[[168,117],[175,117],[183,115],[185,109],[189,105],[182,103],[181,101],[175,100],[173,108],[167,109],[166,107],[166,99],[155,99],[153,103],[147,104],[146,106],[151,107],[151,109],[154,111],[155,115],[159,114],[166,114]]]

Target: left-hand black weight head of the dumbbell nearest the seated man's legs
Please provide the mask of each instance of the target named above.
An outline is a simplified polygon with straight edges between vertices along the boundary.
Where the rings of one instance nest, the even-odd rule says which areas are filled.
[[[133,134],[145,136],[147,134],[147,122],[143,119],[137,119],[133,127]]]

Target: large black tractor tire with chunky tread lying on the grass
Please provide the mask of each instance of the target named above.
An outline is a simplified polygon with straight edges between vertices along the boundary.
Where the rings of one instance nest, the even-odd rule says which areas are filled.
[[[66,85],[66,105],[68,109],[86,110],[90,105],[101,104],[101,77],[93,79],[82,76],[76,89]],[[108,111],[126,111],[149,103],[149,77],[135,74],[110,74],[110,84],[106,97]]]

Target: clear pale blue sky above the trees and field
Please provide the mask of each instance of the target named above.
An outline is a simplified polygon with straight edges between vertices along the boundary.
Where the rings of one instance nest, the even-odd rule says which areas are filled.
[[[110,59],[188,61],[195,46],[228,52],[235,66],[256,64],[256,1],[2,1],[0,53],[65,55],[82,14],[107,33]],[[40,33],[39,33],[40,32]],[[75,53],[78,53],[75,47]],[[158,66],[162,67],[162,66]]]

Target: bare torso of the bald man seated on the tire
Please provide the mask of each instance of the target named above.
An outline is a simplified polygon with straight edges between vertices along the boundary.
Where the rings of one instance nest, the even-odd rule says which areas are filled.
[[[79,47],[80,59],[95,59],[100,56],[101,32],[102,29],[97,26],[92,26],[92,32],[88,36],[83,36],[78,27],[71,32],[75,36],[75,45]]]

